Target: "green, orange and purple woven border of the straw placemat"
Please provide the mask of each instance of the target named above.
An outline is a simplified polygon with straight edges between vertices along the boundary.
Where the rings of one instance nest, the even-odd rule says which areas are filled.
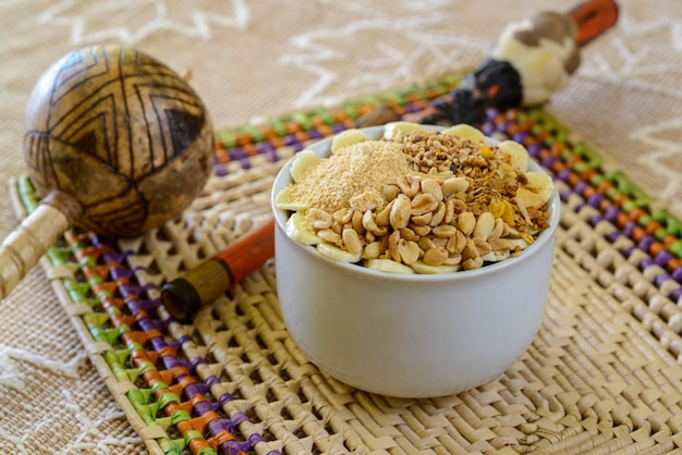
[[[452,75],[426,87],[390,91],[338,109],[314,109],[261,125],[217,132],[216,172],[224,174],[234,164],[247,169],[254,156],[279,160],[284,148],[291,156],[310,140],[352,127],[358,116],[377,106],[390,104],[403,113],[423,109],[460,81],[461,75]],[[482,130],[491,137],[524,144],[557,183],[561,182],[564,206],[586,217],[595,229],[606,226],[599,231],[605,238],[620,245],[623,256],[672,302],[680,300],[682,223],[678,219],[665,209],[654,209],[651,199],[621,172],[606,171],[592,148],[572,140],[568,131],[540,109],[491,110]],[[27,177],[20,181],[19,193],[26,209],[34,210],[39,197]],[[234,399],[232,395],[207,397],[219,379],[202,380],[195,374],[204,358],[191,362],[180,358],[180,347],[195,341],[190,335],[168,341],[170,320],[160,320],[155,311],[160,302],[147,297],[156,286],[137,284],[135,270],[124,266],[132,255],[135,253],[119,250],[114,238],[70,231],[63,246],[51,248],[48,258],[52,266],[74,271],[75,280],[62,280],[71,300],[85,306],[74,311],[81,313],[89,336],[109,346],[101,357],[115,380],[136,385],[126,397],[142,421],[160,426],[170,435],[156,439],[163,453],[253,453],[266,438],[240,431],[240,425],[249,419],[245,413],[226,415],[222,407]]]

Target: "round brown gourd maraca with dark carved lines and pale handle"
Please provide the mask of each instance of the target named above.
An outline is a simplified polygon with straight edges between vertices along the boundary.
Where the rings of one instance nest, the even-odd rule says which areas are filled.
[[[54,62],[28,98],[26,127],[28,176],[44,199],[0,247],[0,298],[68,229],[137,236],[180,214],[212,171],[198,95],[131,48]]]

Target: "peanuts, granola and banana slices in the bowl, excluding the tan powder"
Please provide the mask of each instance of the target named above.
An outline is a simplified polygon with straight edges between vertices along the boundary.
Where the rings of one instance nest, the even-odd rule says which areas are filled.
[[[547,228],[553,183],[527,171],[527,152],[516,143],[488,145],[466,125],[435,133],[399,124],[389,134],[380,140],[402,144],[411,171],[381,185],[386,204],[329,212],[282,192],[278,207],[292,210],[292,238],[387,272],[446,273],[517,255]]]

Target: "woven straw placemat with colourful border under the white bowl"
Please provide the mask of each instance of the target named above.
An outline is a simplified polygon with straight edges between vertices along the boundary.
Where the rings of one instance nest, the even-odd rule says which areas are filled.
[[[276,173],[306,144],[458,82],[218,132],[216,174],[181,218],[133,239],[74,230],[50,249],[41,267],[151,454],[682,453],[682,223],[540,109],[482,126],[523,143],[562,199],[541,328],[498,379],[398,399],[329,378],[287,332],[272,263],[191,325],[160,305],[166,280],[268,219]],[[27,177],[11,186],[24,217],[38,196]]]

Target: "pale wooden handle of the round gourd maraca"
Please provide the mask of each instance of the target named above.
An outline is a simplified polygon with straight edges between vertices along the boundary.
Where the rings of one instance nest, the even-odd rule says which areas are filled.
[[[73,225],[80,205],[62,192],[50,193],[0,246],[0,298],[16,284]]]

